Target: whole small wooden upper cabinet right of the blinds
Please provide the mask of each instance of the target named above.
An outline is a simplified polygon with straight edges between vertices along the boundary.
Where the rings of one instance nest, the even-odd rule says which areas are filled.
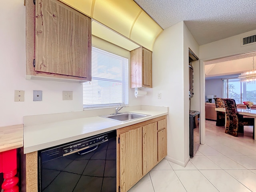
[[[152,88],[152,52],[143,47],[130,52],[131,88]]]

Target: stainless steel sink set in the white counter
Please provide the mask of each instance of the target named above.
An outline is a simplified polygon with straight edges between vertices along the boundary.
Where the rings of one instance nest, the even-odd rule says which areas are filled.
[[[111,120],[115,120],[115,121],[119,121],[119,122],[126,122],[126,121],[140,119],[140,118],[148,117],[148,116],[151,116],[151,115],[125,112],[125,113],[118,113],[118,114],[111,114],[111,115],[103,115],[101,117],[111,119]]]

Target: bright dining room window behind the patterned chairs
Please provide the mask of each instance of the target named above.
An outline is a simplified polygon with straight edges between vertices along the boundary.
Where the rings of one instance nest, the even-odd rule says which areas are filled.
[[[223,80],[223,98],[232,98],[236,104],[242,104],[243,101],[252,101],[256,103],[255,84],[241,83],[238,78]]]

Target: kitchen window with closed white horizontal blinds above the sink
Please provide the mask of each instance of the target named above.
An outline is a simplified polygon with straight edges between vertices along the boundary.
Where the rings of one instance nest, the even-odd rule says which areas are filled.
[[[128,105],[128,58],[92,47],[92,81],[83,84],[84,108]]]

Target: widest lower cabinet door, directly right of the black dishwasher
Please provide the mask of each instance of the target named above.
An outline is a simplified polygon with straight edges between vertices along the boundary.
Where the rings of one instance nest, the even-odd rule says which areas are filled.
[[[142,127],[120,134],[120,190],[142,178]]]

